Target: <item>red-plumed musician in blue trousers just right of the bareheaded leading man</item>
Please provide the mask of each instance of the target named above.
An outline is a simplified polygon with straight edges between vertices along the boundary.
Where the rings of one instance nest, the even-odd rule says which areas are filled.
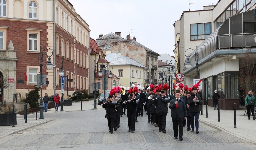
[[[200,108],[199,105],[202,105],[202,100],[201,97],[199,97],[197,95],[197,91],[199,85],[196,83],[193,87],[192,87],[192,93],[190,94],[190,97],[188,97],[188,105],[189,105],[189,116],[191,119],[191,132],[194,132],[194,125],[196,124],[196,133],[198,134],[199,131],[199,123],[198,123],[198,119],[199,119],[199,114],[200,114]],[[195,120],[195,124],[194,124],[194,120]]]

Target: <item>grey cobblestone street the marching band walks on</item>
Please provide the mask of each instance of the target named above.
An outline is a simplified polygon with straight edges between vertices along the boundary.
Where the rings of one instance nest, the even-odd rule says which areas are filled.
[[[168,110],[169,111],[169,110]],[[108,132],[105,110],[44,113],[55,119],[37,127],[5,136],[0,149],[255,149],[253,143],[239,139],[199,123],[200,134],[184,128],[183,141],[175,140],[170,111],[166,118],[166,134],[150,125],[144,111],[138,117],[136,131],[128,132],[127,115],[123,115],[120,128]]]

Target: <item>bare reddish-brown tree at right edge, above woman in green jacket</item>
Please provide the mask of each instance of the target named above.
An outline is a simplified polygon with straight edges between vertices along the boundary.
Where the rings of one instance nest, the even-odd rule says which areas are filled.
[[[251,49],[247,48],[245,57],[242,59],[240,66],[240,79],[243,83],[244,95],[255,87],[256,66],[254,65],[254,58],[251,54]]]

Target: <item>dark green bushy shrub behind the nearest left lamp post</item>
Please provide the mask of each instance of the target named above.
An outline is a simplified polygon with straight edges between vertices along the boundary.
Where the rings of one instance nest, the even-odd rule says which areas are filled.
[[[27,98],[25,100],[23,100],[23,102],[29,103],[29,106],[32,108],[35,108],[35,105],[37,103],[37,105],[39,106],[39,102],[38,99],[40,99],[40,95],[39,95],[39,89],[36,88],[35,90],[28,90],[28,94],[27,94]]]

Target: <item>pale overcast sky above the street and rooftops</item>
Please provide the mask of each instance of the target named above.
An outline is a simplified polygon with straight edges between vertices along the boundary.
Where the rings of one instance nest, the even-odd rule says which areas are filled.
[[[219,0],[69,0],[88,23],[90,37],[121,32],[156,53],[173,54],[174,27],[183,11],[203,10]],[[131,30],[132,29],[132,30]]]

